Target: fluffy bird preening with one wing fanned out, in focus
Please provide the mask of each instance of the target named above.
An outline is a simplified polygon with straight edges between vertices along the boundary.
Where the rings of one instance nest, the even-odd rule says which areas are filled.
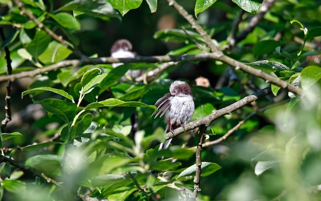
[[[162,117],[165,114],[164,122],[167,124],[165,133],[185,125],[193,116],[194,101],[191,87],[184,81],[174,81],[169,87],[169,93],[159,98],[152,116]],[[159,145],[159,150],[167,149],[171,139]]]

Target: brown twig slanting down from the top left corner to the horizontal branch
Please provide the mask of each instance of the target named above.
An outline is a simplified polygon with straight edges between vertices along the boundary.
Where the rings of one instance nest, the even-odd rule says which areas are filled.
[[[19,1],[19,0],[13,0],[13,2],[17,5],[17,7],[22,11],[22,14],[26,14],[27,17],[29,17],[36,25],[39,29],[44,30],[49,36],[51,36],[53,39],[55,39],[57,42],[63,44],[66,48],[72,50],[76,55],[78,55],[81,58],[86,58],[87,56],[85,56],[83,53],[81,53],[79,50],[73,48],[72,46],[70,46],[63,38],[63,36],[58,36],[57,34],[55,34],[53,31],[51,31],[51,29],[49,29],[48,27],[46,27],[42,22],[39,22],[38,19],[33,16],[32,13],[29,13],[25,7],[24,4]]]

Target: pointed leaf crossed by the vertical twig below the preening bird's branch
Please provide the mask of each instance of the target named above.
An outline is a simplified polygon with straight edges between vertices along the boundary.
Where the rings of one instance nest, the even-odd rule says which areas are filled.
[[[214,172],[216,172],[217,170],[219,170],[221,167],[215,163],[210,163],[210,162],[202,162],[202,174],[200,176],[208,176]],[[195,175],[196,173],[196,164],[188,167],[187,169],[185,169],[183,172],[181,172],[178,176],[177,179],[180,177],[186,177],[186,176],[190,176],[190,175]]]

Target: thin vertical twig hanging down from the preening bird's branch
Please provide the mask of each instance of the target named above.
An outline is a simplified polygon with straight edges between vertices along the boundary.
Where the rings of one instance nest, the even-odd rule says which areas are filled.
[[[202,173],[202,150],[203,150],[203,140],[205,136],[207,126],[202,126],[199,129],[199,140],[196,149],[196,172],[194,177],[194,191],[193,191],[193,198],[197,197],[197,193],[201,190],[200,189],[200,174]]]

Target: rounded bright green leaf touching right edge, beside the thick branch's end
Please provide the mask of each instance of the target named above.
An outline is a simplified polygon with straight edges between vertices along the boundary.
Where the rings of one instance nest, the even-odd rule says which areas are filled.
[[[321,68],[318,66],[308,66],[301,72],[300,82],[303,89],[309,89],[321,78]]]

